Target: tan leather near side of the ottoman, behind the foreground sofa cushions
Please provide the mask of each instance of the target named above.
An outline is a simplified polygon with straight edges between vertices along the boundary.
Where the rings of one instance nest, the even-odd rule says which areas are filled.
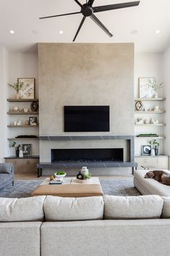
[[[32,192],[35,195],[57,195],[58,197],[92,197],[103,195],[99,184],[40,185]]]

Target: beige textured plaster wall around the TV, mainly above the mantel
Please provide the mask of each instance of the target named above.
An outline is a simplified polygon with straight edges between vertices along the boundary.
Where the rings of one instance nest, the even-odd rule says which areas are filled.
[[[38,59],[41,136],[134,134],[133,43],[40,43]],[[109,106],[110,132],[63,132],[67,105]],[[40,161],[50,161],[47,143],[40,141]]]

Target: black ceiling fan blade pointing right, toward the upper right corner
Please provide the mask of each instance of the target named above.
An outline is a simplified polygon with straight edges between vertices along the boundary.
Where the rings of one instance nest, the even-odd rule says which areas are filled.
[[[94,12],[105,12],[110,11],[114,9],[121,9],[121,8],[127,8],[127,7],[137,7],[139,5],[140,1],[130,1],[128,3],[122,3],[122,4],[109,4],[104,5],[101,7],[93,7]]]

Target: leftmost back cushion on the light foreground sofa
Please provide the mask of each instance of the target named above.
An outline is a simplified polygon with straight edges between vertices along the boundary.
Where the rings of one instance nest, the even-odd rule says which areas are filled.
[[[45,196],[27,198],[0,197],[0,222],[42,221]]]

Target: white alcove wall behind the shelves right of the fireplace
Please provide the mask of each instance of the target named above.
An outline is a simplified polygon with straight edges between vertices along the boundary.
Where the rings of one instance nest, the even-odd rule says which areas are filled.
[[[134,95],[135,98],[139,98],[138,90],[138,77],[156,77],[156,81],[161,83],[164,81],[163,77],[163,54],[135,54],[135,74],[134,74]],[[158,90],[158,96],[163,96],[164,90]],[[153,102],[144,103],[146,107],[153,108],[158,105],[160,109],[164,108],[164,103]],[[135,114],[135,119],[141,117],[150,121],[151,117],[158,119],[159,122],[164,121],[164,115],[162,114]],[[140,133],[156,133],[158,135],[164,134],[164,128],[160,127],[135,127],[135,135]],[[141,145],[148,145],[148,139],[135,139],[135,155],[141,154]],[[161,140],[160,151],[163,153],[164,141]]]

